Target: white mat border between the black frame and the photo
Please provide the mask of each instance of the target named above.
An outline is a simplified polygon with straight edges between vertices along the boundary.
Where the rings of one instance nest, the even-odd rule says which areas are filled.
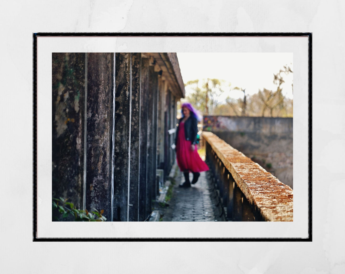
[[[52,52],[293,52],[293,222],[52,222]],[[285,64],[284,64],[285,65]],[[37,37],[38,238],[308,237],[308,37]]]

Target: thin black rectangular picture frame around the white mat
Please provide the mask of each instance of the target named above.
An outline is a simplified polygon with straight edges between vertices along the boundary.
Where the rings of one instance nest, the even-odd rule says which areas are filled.
[[[37,237],[37,38],[41,36],[54,37],[88,37],[88,36],[136,36],[136,37],[181,37],[181,36],[209,36],[209,37],[308,37],[308,237],[307,238],[38,238]],[[57,241],[188,241],[188,242],[253,242],[253,241],[272,241],[272,242],[312,242],[312,33],[311,32],[133,32],[133,33],[107,33],[107,32],[88,32],[88,33],[63,33],[63,32],[37,32],[33,33],[33,242],[57,242]]]

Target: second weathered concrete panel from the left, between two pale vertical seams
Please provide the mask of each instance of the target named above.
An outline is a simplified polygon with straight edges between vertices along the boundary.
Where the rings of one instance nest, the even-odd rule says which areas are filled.
[[[88,53],[87,62],[86,208],[110,219],[114,53]]]

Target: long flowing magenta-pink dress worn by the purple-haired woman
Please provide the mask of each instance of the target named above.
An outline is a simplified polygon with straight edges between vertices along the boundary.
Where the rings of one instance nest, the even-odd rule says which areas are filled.
[[[208,170],[207,164],[200,158],[195,145],[194,151],[191,150],[191,141],[185,139],[185,126],[180,123],[176,145],[176,160],[182,172],[203,172]]]

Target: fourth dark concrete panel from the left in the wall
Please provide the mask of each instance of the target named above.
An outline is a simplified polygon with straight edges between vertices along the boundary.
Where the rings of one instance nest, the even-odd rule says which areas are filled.
[[[141,53],[131,53],[131,126],[129,221],[139,221],[139,156],[140,156],[140,70]]]

